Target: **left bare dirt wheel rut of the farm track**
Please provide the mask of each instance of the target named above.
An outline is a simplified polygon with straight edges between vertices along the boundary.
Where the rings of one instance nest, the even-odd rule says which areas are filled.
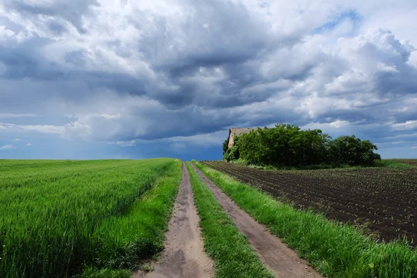
[[[152,265],[153,272],[139,271],[133,277],[213,277],[213,261],[204,252],[198,223],[190,177],[185,163],[182,163],[182,180],[165,238],[165,250],[158,263]]]

